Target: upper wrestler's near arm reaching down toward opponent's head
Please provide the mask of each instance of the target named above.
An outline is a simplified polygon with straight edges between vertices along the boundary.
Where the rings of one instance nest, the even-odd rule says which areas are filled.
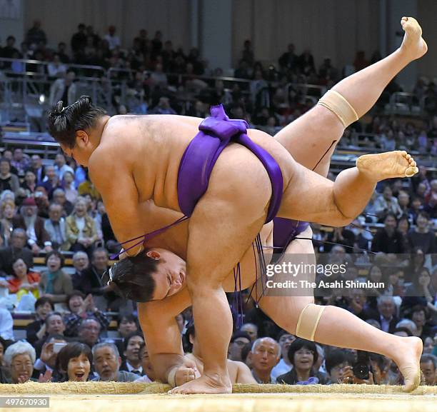
[[[129,164],[114,158],[111,153],[96,154],[89,162],[89,176],[104,201],[116,239],[122,243],[144,234],[139,208],[139,194]],[[135,242],[124,245],[124,249]],[[135,256],[141,245],[127,254]]]

